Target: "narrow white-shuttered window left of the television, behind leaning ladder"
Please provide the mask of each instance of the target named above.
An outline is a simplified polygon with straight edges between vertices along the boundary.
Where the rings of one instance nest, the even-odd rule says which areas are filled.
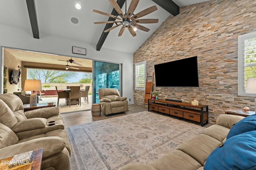
[[[146,61],[134,64],[135,72],[135,89],[145,90],[146,80]]]

